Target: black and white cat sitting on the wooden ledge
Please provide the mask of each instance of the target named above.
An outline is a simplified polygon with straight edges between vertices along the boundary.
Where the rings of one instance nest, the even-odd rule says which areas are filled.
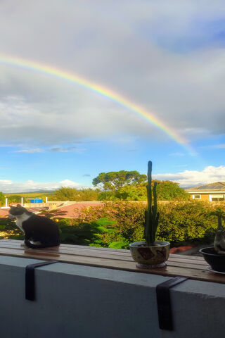
[[[9,218],[16,218],[15,224],[25,234],[25,245],[32,249],[60,245],[58,225],[44,216],[35,215],[20,206],[11,206]]]

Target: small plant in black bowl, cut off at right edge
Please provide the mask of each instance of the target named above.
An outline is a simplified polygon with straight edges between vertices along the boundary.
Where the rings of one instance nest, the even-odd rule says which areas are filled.
[[[210,215],[217,216],[217,230],[214,237],[214,246],[200,249],[200,253],[203,254],[205,261],[210,264],[210,270],[213,270],[216,273],[225,273],[225,237],[222,224],[223,220],[225,220],[225,212],[222,211],[221,208],[217,208],[217,210],[212,211]]]

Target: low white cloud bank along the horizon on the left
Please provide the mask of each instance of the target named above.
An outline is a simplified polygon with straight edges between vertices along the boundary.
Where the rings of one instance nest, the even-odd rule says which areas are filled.
[[[35,192],[37,190],[55,190],[60,187],[81,188],[81,184],[71,180],[62,180],[60,182],[34,182],[27,180],[25,182],[13,182],[11,180],[0,180],[0,192],[5,194],[16,192]]]

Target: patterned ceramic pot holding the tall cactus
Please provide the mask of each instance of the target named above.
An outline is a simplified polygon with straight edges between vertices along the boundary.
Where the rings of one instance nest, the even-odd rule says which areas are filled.
[[[162,268],[169,258],[169,242],[155,242],[154,246],[146,246],[146,242],[129,244],[131,256],[138,268]]]

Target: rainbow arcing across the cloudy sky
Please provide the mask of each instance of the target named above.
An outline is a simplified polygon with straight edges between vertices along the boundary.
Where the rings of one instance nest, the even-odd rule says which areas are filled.
[[[101,87],[98,84],[91,82],[89,80],[85,80],[84,78],[79,77],[77,75],[64,72],[63,70],[60,70],[58,68],[52,68],[49,65],[41,65],[40,63],[34,61],[28,61],[21,58],[14,58],[11,56],[0,54],[0,63],[13,65],[15,67],[27,70],[37,71],[39,73],[49,74],[51,76],[55,76],[63,80],[74,82],[82,87],[90,89],[93,92],[101,94],[102,96],[105,96],[108,99],[115,101],[117,104],[120,104],[120,106],[124,106],[125,108],[129,109],[129,111],[133,111],[134,113],[140,115],[142,118],[147,120],[148,123],[151,123],[155,127],[158,127],[160,130],[162,130],[162,132],[165,132],[165,134],[169,135],[169,137],[174,139],[174,141],[181,144],[181,146],[184,146],[184,148],[190,154],[195,154],[195,151],[188,144],[188,141],[184,139],[184,137],[181,137],[181,135],[172,130],[171,127],[169,127],[168,125],[160,121],[158,118],[156,118],[155,115],[153,115],[153,113],[146,111],[146,109],[141,108],[141,106],[132,103],[130,100],[125,99],[124,97],[120,96],[120,94],[117,94],[111,91],[110,89]]]

